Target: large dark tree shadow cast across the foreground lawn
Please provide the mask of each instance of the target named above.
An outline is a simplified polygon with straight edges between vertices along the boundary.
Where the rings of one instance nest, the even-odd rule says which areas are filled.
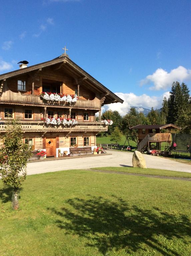
[[[89,196],[90,197],[90,196]],[[153,208],[143,210],[129,207],[121,198],[74,198],[66,201],[68,208],[51,208],[58,215],[56,223],[66,234],[78,234],[89,240],[87,246],[97,247],[105,255],[108,251],[125,249],[127,253],[143,250],[143,244],[161,255],[178,256],[157,239],[180,239],[190,235],[191,223],[187,216],[175,216]],[[72,210],[70,210],[72,209]]]

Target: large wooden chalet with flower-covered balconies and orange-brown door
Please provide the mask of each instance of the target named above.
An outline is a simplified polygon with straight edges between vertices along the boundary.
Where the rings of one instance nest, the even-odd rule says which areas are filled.
[[[94,147],[96,134],[107,131],[101,107],[115,102],[123,100],[66,53],[29,67],[23,61],[19,70],[0,75],[0,133],[9,115],[20,119],[23,142],[46,149],[47,157],[58,156],[58,149],[69,152],[75,144]]]

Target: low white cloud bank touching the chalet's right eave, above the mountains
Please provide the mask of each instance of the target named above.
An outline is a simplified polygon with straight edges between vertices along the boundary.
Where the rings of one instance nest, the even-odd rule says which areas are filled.
[[[142,94],[140,96],[137,96],[132,92],[131,93],[116,92],[115,94],[124,100],[123,104],[122,103],[107,104],[102,107],[102,111],[105,111],[108,109],[111,109],[112,111],[117,110],[122,116],[124,116],[127,114],[131,106],[139,107],[140,112],[143,107],[148,109],[151,109],[152,107],[154,109],[161,108],[162,100],[164,96],[168,97],[169,92],[165,92],[159,97],[156,97],[156,96],[151,97],[147,94]]]

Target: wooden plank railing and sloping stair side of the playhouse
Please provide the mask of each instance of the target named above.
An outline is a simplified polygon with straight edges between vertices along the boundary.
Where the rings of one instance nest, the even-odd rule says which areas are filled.
[[[170,133],[149,133],[145,136],[145,138],[137,145],[137,150],[141,151],[146,145],[148,145],[148,142],[163,142],[168,141],[171,142],[171,134]]]

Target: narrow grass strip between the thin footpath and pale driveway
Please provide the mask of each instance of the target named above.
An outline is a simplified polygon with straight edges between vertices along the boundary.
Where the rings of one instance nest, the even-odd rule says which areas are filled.
[[[143,169],[143,168],[132,168],[132,167],[97,167],[97,168],[91,168],[91,169],[107,170],[107,171],[114,171],[114,172],[150,174],[150,175],[169,176],[169,177],[191,178],[191,173],[188,173],[188,172],[177,172],[177,171],[150,169],[150,168]]]

